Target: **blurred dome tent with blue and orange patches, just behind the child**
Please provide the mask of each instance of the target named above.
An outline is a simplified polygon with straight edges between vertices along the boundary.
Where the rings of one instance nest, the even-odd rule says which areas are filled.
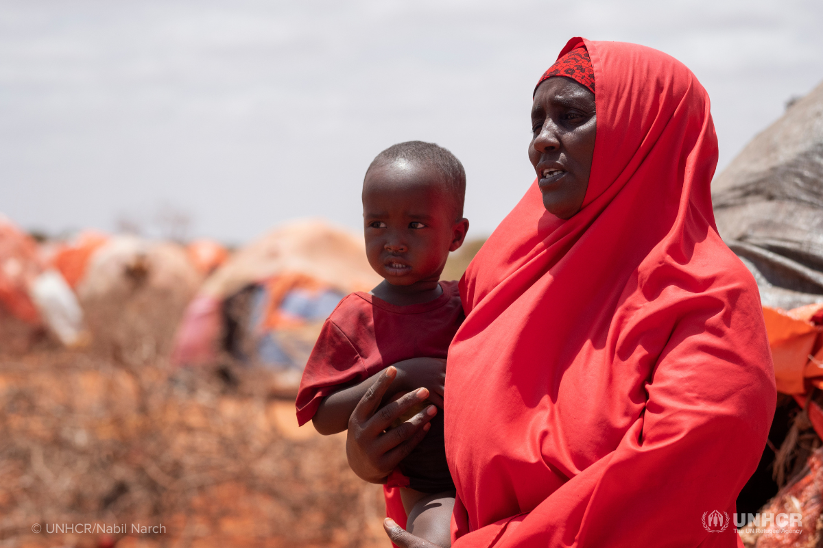
[[[299,372],[337,302],[381,280],[360,235],[319,219],[285,224],[236,251],[203,283],[180,325],[173,360],[208,363],[229,351],[241,361]]]

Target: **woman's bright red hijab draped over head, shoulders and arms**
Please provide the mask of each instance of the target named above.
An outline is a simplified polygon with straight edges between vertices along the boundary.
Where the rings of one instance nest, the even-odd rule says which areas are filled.
[[[571,39],[560,57],[580,46],[582,209],[558,219],[533,183],[461,281],[453,546],[736,546],[776,394],[756,283],[714,225],[709,97],[664,53]]]

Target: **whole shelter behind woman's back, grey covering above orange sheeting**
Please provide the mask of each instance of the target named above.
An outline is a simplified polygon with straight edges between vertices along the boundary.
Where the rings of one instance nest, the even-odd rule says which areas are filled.
[[[715,177],[712,199],[718,232],[760,289],[783,394],[738,512],[756,511],[742,509],[745,500],[754,503],[770,490],[768,498],[790,478],[762,511],[790,503],[804,515],[796,535],[756,534],[750,528],[743,538],[746,546],[761,548],[818,546],[823,539],[817,523],[823,454],[815,452],[823,435],[823,84],[790,104]]]

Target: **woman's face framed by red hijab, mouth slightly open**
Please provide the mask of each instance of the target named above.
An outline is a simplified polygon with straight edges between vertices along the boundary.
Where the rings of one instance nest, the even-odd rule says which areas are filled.
[[[565,76],[552,76],[537,87],[528,159],[537,172],[543,206],[560,219],[569,219],[583,205],[596,134],[594,94],[588,88]]]

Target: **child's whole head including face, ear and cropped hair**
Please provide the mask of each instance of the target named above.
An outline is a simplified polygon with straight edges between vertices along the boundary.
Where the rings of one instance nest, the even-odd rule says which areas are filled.
[[[465,194],[463,164],[434,143],[410,140],[378,154],[363,181],[371,267],[393,285],[439,279],[466,237]]]

